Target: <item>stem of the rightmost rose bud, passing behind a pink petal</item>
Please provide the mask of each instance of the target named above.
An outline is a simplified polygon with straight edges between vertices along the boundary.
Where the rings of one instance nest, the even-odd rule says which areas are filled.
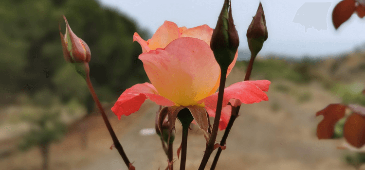
[[[245,80],[250,80],[250,76],[251,76],[251,71],[252,71],[252,66],[254,65],[254,60],[255,60],[256,56],[254,57],[253,54],[251,53],[251,59],[250,59],[250,63],[248,64],[247,67],[247,71],[246,71],[246,75],[245,75]],[[231,128],[233,126],[233,123],[235,122],[236,118],[238,117],[238,112],[239,109],[241,108],[241,105],[238,105],[236,108],[234,106],[232,106],[232,112],[231,112],[231,117],[229,118],[228,124],[227,124],[227,128],[224,131],[224,135],[222,137],[222,140],[220,141],[220,146],[224,146],[226,144],[226,140],[228,137],[229,132],[231,131]],[[219,147],[216,156],[214,157],[212,166],[210,167],[210,170],[214,170],[217,166],[217,162],[220,156],[220,153],[222,152],[222,149]]]

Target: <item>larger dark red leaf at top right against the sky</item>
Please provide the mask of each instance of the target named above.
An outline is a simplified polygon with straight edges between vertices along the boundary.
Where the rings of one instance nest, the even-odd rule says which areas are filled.
[[[335,6],[332,11],[332,23],[336,30],[351,17],[355,8],[355,0],[343,0]]]

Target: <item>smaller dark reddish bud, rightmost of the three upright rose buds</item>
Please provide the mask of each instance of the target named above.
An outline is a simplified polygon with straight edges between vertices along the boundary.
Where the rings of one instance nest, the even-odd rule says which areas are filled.
[[[252,56],[256,57],[268,38],[265,14],[261,2],[258,5],[255,17],[253,17],[252,22],[247,29],[246,36]]]

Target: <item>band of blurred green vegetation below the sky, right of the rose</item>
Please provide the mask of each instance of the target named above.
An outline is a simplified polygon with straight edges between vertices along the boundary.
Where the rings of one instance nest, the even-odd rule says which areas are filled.
[[[248,61],[238,61],[236,66],[245,69]],[[325,60],[283,59],[272,56],[266,59],[256,59],[252,75],[256,79],[270,81],[288,80],[295,84],[308,84],[317,81],[324,88],[340,96],[345,104],[365,105],[365,53],[344,54],[336,58]],[[274,86],[274,90],[289,93],[290,87],[285,84]],[[307,102],[311,99],[310,91],[301,92],[298,102]]]

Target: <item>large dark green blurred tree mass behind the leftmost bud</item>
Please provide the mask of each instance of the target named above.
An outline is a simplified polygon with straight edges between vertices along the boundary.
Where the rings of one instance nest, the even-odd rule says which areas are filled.
[[[134,32],[143,38],[147,32],[130,18],[94,0],[1,0],[0,95],[25,91],[33,96],[48,88],[63,102],[87,101],[85,82],[63,59],[58,34],[58,23],[65,31],[63,14],[91,49],[91,79],[100,100],[116,100],[126,88],[147,80],[138,60],[142,50],[132,43]]]

